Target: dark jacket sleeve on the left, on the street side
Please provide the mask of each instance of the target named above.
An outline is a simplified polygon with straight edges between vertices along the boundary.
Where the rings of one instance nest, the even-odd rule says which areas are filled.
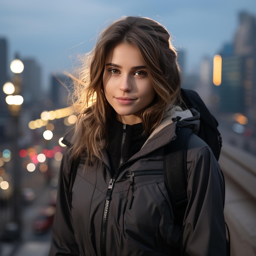
[[[61,161],[56,213],[52,228],[51,247],[49,256],[79,256],[79,248],[74,237],[72,216],[67,200],[66,188],[68,186],[71,160],[67,153],[63,154]]]

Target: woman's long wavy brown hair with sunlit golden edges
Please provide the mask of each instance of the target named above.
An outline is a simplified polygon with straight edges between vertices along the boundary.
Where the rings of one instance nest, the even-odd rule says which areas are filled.
[[[170,105],[180,105],[180,68],[177,53],[167,29],[150,18],[128,16],[104,29],[89,54],[81,58],[81,65],[72,74],[70,94],[77,115],[70,151],[76,158],[85,153],[89,162],[101,159],[107,146],[107,125],[113,109],[103,91],[103,71],[106,56],[119,43],[139,48],[155,89],[155,99],[141,113],[144,134],[159,125]]]

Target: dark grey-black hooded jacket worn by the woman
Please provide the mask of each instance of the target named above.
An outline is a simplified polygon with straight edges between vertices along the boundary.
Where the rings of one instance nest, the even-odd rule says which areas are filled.
[[[166,115],[135,155],[111,176],[109,158],[93,166],[78,166],[72,189],[72,209],[67,200],[71,159],[63,155],[50,256],[175,255],[181,239],[182,255],[224,256],[226,232],[223,214],[224,184],[211,149],[196,135],[187,153],[188,207],[183,234],[174,221],[164,184],[164,145],[176,138],[173,116],[180,125],[198,129],[198,113],[189,110]]]

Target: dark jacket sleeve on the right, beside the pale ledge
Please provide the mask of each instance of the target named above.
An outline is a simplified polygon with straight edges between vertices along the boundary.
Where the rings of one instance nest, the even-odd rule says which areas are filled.
[[[225,188],[220,166],[209,146],[191,151],[182,255],[225,256]]]

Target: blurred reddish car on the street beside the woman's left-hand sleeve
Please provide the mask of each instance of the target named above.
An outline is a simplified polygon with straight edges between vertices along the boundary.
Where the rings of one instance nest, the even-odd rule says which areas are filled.
[[[32,230],[34,234],[44,234],[46,233],[51,227],[54,219],[55,214],[55,207],[48,206],[42,208],[39,214],[32,222]]]

